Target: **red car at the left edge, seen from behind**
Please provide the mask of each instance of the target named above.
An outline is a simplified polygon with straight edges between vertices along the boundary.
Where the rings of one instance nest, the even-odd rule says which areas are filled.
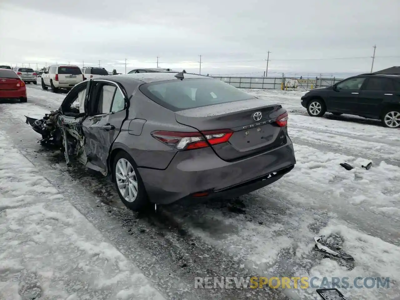
[[[0,99],[27,100],[25,82],[13,70],[0,69]]]

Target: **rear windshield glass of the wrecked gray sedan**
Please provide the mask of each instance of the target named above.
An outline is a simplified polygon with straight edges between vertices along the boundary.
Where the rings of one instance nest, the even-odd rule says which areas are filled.
[[[139,87],[154,102],[177,112],[254,98],[221,80],[211,78],[151,82]]]

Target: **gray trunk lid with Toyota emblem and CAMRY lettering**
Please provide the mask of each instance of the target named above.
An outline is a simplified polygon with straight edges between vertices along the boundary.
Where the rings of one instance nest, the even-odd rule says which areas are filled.
[[[249,99],[175,112],[176,121],[199,131],[230,129],[229,141],[212,145],[226,161],[254,156],[286,143],[286,127],[276,120],[286,110],[265,99]]]

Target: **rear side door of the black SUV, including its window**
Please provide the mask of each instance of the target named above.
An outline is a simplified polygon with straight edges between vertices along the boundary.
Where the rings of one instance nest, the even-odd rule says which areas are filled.
[[[396,94],[392,78],[369,77],[358,97],[358,109],[365,116],[379,118],[383,102],[390,102]]]

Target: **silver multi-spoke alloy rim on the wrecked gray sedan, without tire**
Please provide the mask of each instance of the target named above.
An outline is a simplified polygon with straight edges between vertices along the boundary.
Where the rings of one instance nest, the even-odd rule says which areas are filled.
[[[115,167],[115,179],[121,195],[127,202],[134,202],[138,196],[138,178],[128,160],[120,158]]]

